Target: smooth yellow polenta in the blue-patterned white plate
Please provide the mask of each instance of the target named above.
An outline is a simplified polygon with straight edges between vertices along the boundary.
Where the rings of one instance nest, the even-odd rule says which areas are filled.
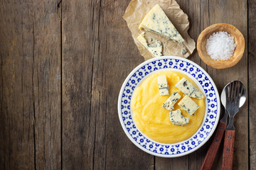
[[[199,106],[194,113],[195,115],[188,115],[186,111],[181,110],[184,117],[190,118],[188,125],[173,125],[170,122],[169,111],[162,107],[170,95],[161,96],[159,94],[157,77],[161,75],[166,75],[170,95],[177,91],[183,98],[184,94],[174,86],[183,77],[196,86],[191,79],[180,72],[164,71],[154,73],[142,81],[134,90],[131,101],[132,116],[137,128],[152,140],[166,144],[181,142],[191,137],[201,126],[206,112],[205,98],[192,98]],[[174,110],[179,108],[177,103],[174,105]]]

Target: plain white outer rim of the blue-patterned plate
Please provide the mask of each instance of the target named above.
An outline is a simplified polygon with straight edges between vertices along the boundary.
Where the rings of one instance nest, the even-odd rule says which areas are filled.
[[[181,153],[181,154],[158,154],[158,153],[155,153],[155,152],[151,152],[149,151],[148,149],[145,149],[144,147],[142,147],[141,145],[139,145],[139,143],[137,143],[131,135],[129,135],[129,132],[127,131],[127,128],[125,127],[123,121],[122,121],[122,112],[121,112],[121,101],[122,101],[122,91],[124,91],[124,87],[126,86],[127,84],[127,81],[129,81],[129,78],[132,77],[132,75],[134,74],[134,72],[137,72],[137,69],[139,69],[140,67],[142,67],[143,65],[146,65],[150,62],[153,62],[154,60],[164,60],[164,59],[174,59],[174,60],[183,60],[185,62],[188,62],[190,64],[193,64],[194,66],[198,67],[198,69],[201,69],[201,71],[203,72],[203,74],[206,74],[206,76],[208,77],[208,79],[210,80],[211,84],[213,85],[213,88],[215,90],[215,95],[216,95],[216,98],[217,98],[217,102],[218,103],[218,106],[217,106],[217,113],[216,113],[216,119],[215,119],[215,124],[213,125],[213,128],[212,130],[210,131],[210,133],[208,134],[208,136],[206,137],[205,140],[203,140],[203,142],[201,142],[200,145],[198,145],[198,147],[195,147],[191,150],[188,150],[187,152],[184,152],[184,153]],[[198,64],[196,64],[195,62],[192,62],[191,60],[188,60],[186,58],[183,58],[183,57],[176,57],[176,56],[161,56],[161,57],[154,57],[152,59],[149,59],[149,60],[146,60],[144,62],[142,62],[141,64],[139,64],[137,67],[135,67],[132,72],[129,73],[129,75],[127,76],[127,78],[124,80],[123,84],[122,84],[122,87],[119,91],[119,96],[118,96],[118,102],[117,102],[117,110],[118,110],[118,115],[119,115],[119,122],[121,123],[122,125],[122,129],[124,130],[124,133],[125,135],[127,135],[127,137],[129,138],[129,140],[132,141],[132,143],[134,143],[134,145],[136,145],[137,147],[139,147],[139,149],[142,149],[144,152],[148,153],[148,154],[151,154],[151,155],[154,155],[156,157],[166,157],[166,158],[171,158],[171,157],[183,157],[185,156],[186,154],[191,154],[192,152],[195,152],[197,149],[201,148],[209,139],[210,137],[213,135],[213,133],[215,132],[215,129],[217,128],[217,125],[218,125],[218,122],[219,122],[219,118],[220,118],[220,96],[218,94],[218,89],[217,87],[215,86],[215,83],[213,81],[213,79],[211,79],[210,75],[201,67],[199,66]],[[202,125],[204,123],[205,120],[203,120],[202,122]],[[147,136],[146,136],[147,137]],[[193,135],[191,136],[193,137]],[[190,138],[191,138],[190,137]],[[151,138],[148,137],[150,140]],[[188,138],[188,139],[190,139]],[[181,141],[182,142],[182,141]],[[158,142],[160,143],[160,142]],[[179,142],[177,142],[179,143]],[[164,145],[174,145],[174,144],[164,144]]]

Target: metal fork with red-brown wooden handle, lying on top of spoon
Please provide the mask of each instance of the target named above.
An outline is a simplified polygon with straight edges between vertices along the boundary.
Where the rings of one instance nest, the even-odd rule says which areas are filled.
[[[240,81],[233,81],[228,89],[226,101],[226,111],[230,117],[227,128],[225,129],[225,141],[223,148],[223,164],[222,169],[232,169],[233,152],[235,142],[235,127],[233,119],[239,111],[239,101],[243,90],[243,84]]]

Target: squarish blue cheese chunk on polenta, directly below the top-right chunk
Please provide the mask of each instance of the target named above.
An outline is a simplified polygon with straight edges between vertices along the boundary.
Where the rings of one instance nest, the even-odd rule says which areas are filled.
[[[189,115],[193,115],[193,113],[195,113],[199,108],[199,106],[189,96],[184,96],[181,101],[178,102],[178,106],[180,106]]]

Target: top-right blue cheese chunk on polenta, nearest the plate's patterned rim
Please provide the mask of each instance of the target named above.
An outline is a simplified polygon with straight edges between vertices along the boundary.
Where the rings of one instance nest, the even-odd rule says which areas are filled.
[[[193,98],[204,98],[203,94],[201,93],[201,91],[199,91],[198,89],[196,89],[195,86],[193,86],[193,84],[191,84],[191,82],[189,82],[186,78],[182,78],[180,81],[178,81],[177,84],[175,84],[175,86],[183,92],[183,94],[186,94],[188,96],[191,96]]]

